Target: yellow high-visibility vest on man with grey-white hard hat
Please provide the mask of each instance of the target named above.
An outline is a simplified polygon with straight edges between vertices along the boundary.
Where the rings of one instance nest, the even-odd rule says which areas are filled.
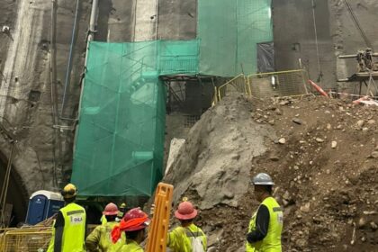
[[[273,197],[267,197],[260,205],[269,211],[269,226],[266,238],[256,243],[247,242],[247,252],[281,252],[281,234],[284,227],[283,210]],[[258,211],[258,209],[257,209]],[[256,229],[257,211],[249,222],[248,233]]]

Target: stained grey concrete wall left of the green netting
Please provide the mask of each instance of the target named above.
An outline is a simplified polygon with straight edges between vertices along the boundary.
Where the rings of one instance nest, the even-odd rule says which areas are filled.
[[[50,91],[51,85],[55,85],[60,112],[76,0],[58,0],[54,19],[51,19],[51,0],[1,2],[0,25],[9,26],[10,32],[0,33],[0,120],[17,139],[10,186],[20,188],[23,196],[17,200],[25,202],[33,191],[58,190],[69,175],[74,122],[53,121]],[[63,114],[72,118],[76,116],[80,94],[79,80],[91,6],[90,0],[79,3],[72,55],[74,67]],[[51,44],[51,23],[56,23],[57,27],[55,44]],[[56,68],[56,75],[51,79],[53,48],[56,58],[52,58],[52,66]],[[10,147],[3,135],[0,147],[6,164]],[[4,166],[0,167],[3,171]],[[12,193],[8,194],[8,200],[14,200]]]

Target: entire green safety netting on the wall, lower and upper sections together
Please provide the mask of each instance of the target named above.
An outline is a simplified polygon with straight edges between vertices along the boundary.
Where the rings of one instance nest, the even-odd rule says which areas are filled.
[[[151,195],[163,174],[163,75],[257,71],[271,0],[199,0],[197,40],[91,42],[72,182],[83,196]]]

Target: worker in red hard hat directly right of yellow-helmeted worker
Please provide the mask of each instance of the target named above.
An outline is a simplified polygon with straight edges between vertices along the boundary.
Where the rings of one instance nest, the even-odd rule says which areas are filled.
[[[108,203],[103,210],[103,216],[106,224],[97,226],[93,232],[85,239],[86,249],[90,252],[117,251],[125,244],[125,235],[122,233],[121,238],[116,243],[112,243],[112,228],[117,224],[115,219],[118,214],[118,207],[114,203]]]

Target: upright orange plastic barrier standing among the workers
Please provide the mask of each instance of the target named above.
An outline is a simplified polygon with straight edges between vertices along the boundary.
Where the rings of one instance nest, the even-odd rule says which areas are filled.
[[[171,184],[157,184],[154,217],[148,229],[147,252],[166,251],[166,235],[169,229],[173,189]]]

